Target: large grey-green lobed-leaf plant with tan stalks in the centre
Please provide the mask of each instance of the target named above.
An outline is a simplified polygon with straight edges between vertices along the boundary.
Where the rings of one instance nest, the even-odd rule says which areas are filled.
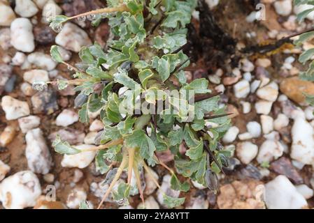
[[[190,61],[182,49],[187,43],[186,25],[190,23],[195,5],[194,0],[110,0],[108,8],[71,18],[57,16],[50,24],[61,26],[72,18],[92,14],[93,24],[108,18],[113,34],[106,49],[94,43],[80,50],[81,62],[75,68],[71,67],[76,79],[57,82],[60,89],[67,84],[77,85],[75,104],[80,108],[81,122],[90,121],[90,112],[99,112],[104,123],[104,130],[95,139],[99,146],[90,150],[97,151],[95,162],[101,174],[113,176],[114,171],[114,176],[105,180],[109,187],[99,208],[110,192],[118,203],[126,203],[122,201],[127,201],[130,194],[138,191],[144,203],[141,171],[145,170],[160,188],[149,168],[156,164],[170,172],[173,190],[190,190],[188,181],[181,182],[175,170],[155,155],[155,152],[168,150],[175,156],[178,174],[217,190],[215,174],[226,166],[230,155],[230,151],[220,148],[218,141],[229,128],[230,120],[224,115],[224,107],[218,103],[219,95],[210,95],[208,80],[195,79],[188,83],[185,77],[183,69],[189,66]],[[55,61],[65,63],[57,46],[52,47],[51,55]],[[177,84],[173,84],[175,82]],[[171,90],[177,90],[179,96],[187,91],[194,94],[182,99],[184,97],[166,94]],[[192,103],[190,98],[199,95],[203,100]],[[176,106],[176,100],[185,106]],[[167,102],[172,105],[172,111],[165,108],[157,114],[136,113],[134,105],[138,101],[141,105]],[[121,107],[127,112],[122,114]],[[191,113],[192,121],[187,121]],[[180,153],[179,146],[183,141],[187,151]],[[59,137],[53,146],[57,153],[84,153]],[[111,169],[116,163],[120,167]],[[123,171],[127,171],[127,181],[112,191]],[[135,186],[131,185],[133,174]],[[184,201],[184,197],[174,198],[164,193],[164,203],[169,208],[180,206]]]

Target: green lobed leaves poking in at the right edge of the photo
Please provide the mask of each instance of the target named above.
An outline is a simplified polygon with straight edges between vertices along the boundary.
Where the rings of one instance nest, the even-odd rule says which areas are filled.
[[[294,5],[301,6],[301,5],[309,5],[313,7],[308,7],[308,9],[304,10],[303,12],[297,15],[297,20],[299,22],[303,22],[306,17],[314,12],[314,1],[311,0],[294,0]],[[314,37],[314,30],[302,33],[297,40],[294,41],[294,44],[297,46],[303,45],[306,41],[313,39]],[[299,56],[299,62],[303,64],[308,64],[308,70],[301,72],[299,77],[306,81],[314,82],[314,48],[307,49],[306,51],[302,52]],[[306,95],[306,101],[311,105],[314,105],[314,95]]]

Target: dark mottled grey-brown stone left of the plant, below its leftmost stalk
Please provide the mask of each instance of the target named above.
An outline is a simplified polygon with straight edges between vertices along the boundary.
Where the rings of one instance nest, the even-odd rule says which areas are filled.
[[[31,104],[33,105],[34,114],[53,114],[59,109],[57,93],[53,89],[38,91],[31,96]]]

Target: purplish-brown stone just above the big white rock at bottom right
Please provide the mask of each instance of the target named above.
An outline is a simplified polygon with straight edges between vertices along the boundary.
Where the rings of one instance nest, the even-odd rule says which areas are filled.
[[[287,178],[290,178],[290,180],[296,184],[304,183],[303,178],[287,157],[281,157],[280,159],[272,162],[270,169],[276,174],[287,176]]]

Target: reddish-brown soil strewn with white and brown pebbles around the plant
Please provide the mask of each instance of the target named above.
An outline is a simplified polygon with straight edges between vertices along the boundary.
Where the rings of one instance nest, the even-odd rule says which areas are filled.
[[[301,9],[293,7],[292,0],[262,0],[265,21],[255,21],[251,1],[206,2],[217,24],[237,40],[236,49],[271,43],[313,26],[314,14],[302,24],[296,22]],[[97,28],[89,21],[75,21],[55,33],[46,21],[50,7],[71,16],[101,6],[98,0],[0,0],[0,208],[78,208],[85,199],[97,206],[104,194],[105,177],[95,169],[94,152],[63,157],[51,147],[56,134],[82,145],[78,148],[93,144],[103,125],[99,114],[90,114],[90,125],[83,125],[73,109],[76,93],[71,86],[44,92],[31,87],[35,80],[71,78],[71,71],[50,58],[50,45],[61,46],[64,61],[74,64],[80,47],[94,41],[104,46],[109,34],[106,21]],[[198,26],[198,20],[196,12],[193,24]],[[310,41],[303,47],[314,45]],[[221,104],[233,113],[233,126],[222,143],[234,149],[234,157],[226,175],[219,176],[217,194],[194,182],[187,194],[173,191],[170,176],[155,167],[164,191],[186,197],[182,208],[313,208],[314,108],[306,105],[303,93],[314,94],[314,84],[298,79],[305,69],[297,62],[300,53],[299,48],[285,47],[267,56],[242,54],[236,66],[226,69],[218,63],[208,68],[210,52],[204,52],[193,71],[187,71],[190,79],[208,77],[210,89],[224,92]],[[173,165],[170,154],[159,157]],[[57,202],[45,201],[53,188]],[[148,208],[163,208],[160,195],[146,180]],[[106,208],[119,206],[108,200]],[[123,208],[141,208],[138,195]]]

